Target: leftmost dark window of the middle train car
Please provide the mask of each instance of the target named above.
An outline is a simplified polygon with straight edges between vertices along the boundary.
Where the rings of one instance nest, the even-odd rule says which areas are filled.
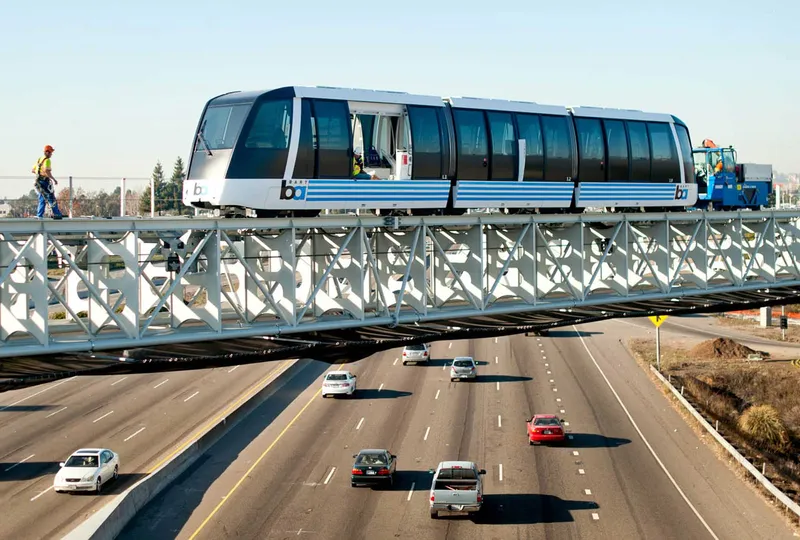
[[[456,124],[459,180],[487,180],[489,178],[489,148],[486,121],[483,111],[453,109]]]

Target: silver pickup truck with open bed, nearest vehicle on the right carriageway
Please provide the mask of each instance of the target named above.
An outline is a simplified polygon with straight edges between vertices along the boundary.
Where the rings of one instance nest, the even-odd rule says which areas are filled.
[[[486,474],[471,461],[442,461],[433,473],[431,483],[431,519],[439,512],[477,513],[483,505],[483,481]]]

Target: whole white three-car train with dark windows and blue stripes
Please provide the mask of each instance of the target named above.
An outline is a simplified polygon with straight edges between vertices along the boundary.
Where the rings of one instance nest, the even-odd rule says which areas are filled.
[[[183,202],[256,217],[683,210],[697,200],[691,150],[667,114],[331,87],[231,92],[203,110]]]

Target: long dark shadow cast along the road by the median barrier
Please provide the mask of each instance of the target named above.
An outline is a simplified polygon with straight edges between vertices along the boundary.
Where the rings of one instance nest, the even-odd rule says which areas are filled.
[[[243,418],[231,431],[142,508],[117,536],[119,539],[150,540],[175,538],[194,510],[206,497],[211,485],[239,458],[239,454],[258,437],[330,364],[298,361],[293,373],[272,395]],[[322,398],[320,398],[322,399]]]

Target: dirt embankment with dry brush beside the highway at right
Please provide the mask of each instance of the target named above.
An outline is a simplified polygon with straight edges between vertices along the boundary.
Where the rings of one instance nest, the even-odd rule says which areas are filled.
[[[655,364],[651,339],[631,350]],[[749,361],[759,354],[764,360]],[[800,361],[767,360],[768,354],[717,338],[695,347],[663,347],[661,365],[672,383],[722,435],[767,477],[800,502]]]

